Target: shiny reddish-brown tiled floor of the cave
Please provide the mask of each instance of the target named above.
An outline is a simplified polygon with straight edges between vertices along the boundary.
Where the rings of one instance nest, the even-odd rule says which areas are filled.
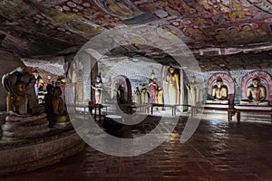
[[[121,129],[118,135],[137,137],[150,132],[158,121],[160,117],[149,117],[136,127]],[[186,121],[187,117],[180,117],[169,140],[138,157],[113,157],[86,147],[51,167],[0,180],[272,180],[270,121],[201,119],[189,141],[180,144]]]

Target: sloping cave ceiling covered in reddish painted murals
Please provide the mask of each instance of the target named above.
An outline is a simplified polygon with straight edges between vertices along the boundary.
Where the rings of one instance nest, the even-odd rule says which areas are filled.
[[[77,52],[96,34],[131,24],[168,27],[199,53],[219,48],[228,54],[264,45],[269,47],[265,51],[272,49],[270,0],[0,0],[4,46],[21,57]],[[123,37],[130,42],[131,35]],[[134,37],[146,41],[141,34]],[[156,52],[153,47],[130,48]]]

